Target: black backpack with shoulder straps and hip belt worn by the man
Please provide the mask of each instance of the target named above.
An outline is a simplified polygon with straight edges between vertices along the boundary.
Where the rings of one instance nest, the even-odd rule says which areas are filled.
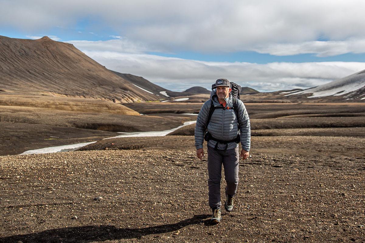
[[[238,130],[239,128],[241,127],[241,123],[239,122],[239,118],[238,118],[238,105],[237,105],[237,99],[239,99],[239,92],[241,92],[242,90],[242,87],[237,85],[236,83],[233,83],[233,82],[230,82],[231,83],[231,94],[232,94],[232,103],[233,103],[233,107],[229,107],[229,106],[226,106],[226,107],[223,107],[223,106],[218,106],[218,107],[215,107],[213,105],[213,101],[211,100],[211,106],[210,106],[210,110],[209,110],[209,115],[208,115],[208,119],[207,119],[207,122],[205,122],[205,129],[204,130],[207,130],[208,128],[208,124],[209,124],[209,121],[210,121],[210,118],[212,117],[212,114],[214,112],[215,109],[234,109],[234,113],[236,114],[236,117],[237,117],[237,123],[238,123]],[[214,89],[213,86],[215,86],[215,84],[212,85],[212,90]],[[236,143],[239,143],[241,141],[241,138],[239,136],[239,134],[237,135],[237,137],[233,140],[230,140],[230,141],[223,141],[223,140],[217,140],[215,138],[212,137],[212,135],[207,131],[204,135],[204,140],[205,141],[209,141],[209,140],[213,140],[213,141],[216,141],[216,145],[215,145],[215,150],[217,149],[217,146],[218,146],[218,143],[221,143],[221,144],[226,144],[226,149],[227,150],[227,147],[228,147],[228,143],[230,142],[236,142]]]

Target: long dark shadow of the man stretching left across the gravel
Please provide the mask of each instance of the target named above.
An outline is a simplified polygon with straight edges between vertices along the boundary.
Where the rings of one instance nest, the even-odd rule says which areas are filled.
[[[185,219],[175,224],[164,224],[161,226],[146,228],[116,228],[115,226],[111,225],[60,228],[26,235],[1,237],[0,243],[18,241],[22,241],[23,243],[81,243],[139,238],[144,235],[162,234],[176,231],[191,224],[208,224],[209,220],[204,220],[208,216],[210,215],[195,215],[191,219]]]

